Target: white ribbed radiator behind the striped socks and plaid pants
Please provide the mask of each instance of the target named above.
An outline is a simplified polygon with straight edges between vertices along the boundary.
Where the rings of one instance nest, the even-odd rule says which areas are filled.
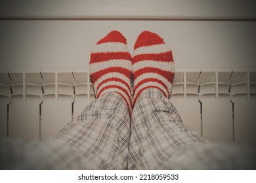
[[[0,137],[46,139],[93,99],[87,70],[0,71]],[[177,70],[170,100],[205,139],[256,145],[256,71]]]

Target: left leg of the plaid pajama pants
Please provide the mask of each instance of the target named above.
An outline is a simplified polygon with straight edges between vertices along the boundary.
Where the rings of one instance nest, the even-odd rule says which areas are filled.
[[[55,137],[46,141],[1,141],[0,167],[126,169],[129,134],[130,116],[125,101],[117,93],[106,93]]]

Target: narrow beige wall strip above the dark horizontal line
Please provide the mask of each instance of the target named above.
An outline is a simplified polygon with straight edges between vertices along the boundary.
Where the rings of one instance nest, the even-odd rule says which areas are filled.
[[[104,18],[249,18],[253,0],[3,0],[0,16]]]

